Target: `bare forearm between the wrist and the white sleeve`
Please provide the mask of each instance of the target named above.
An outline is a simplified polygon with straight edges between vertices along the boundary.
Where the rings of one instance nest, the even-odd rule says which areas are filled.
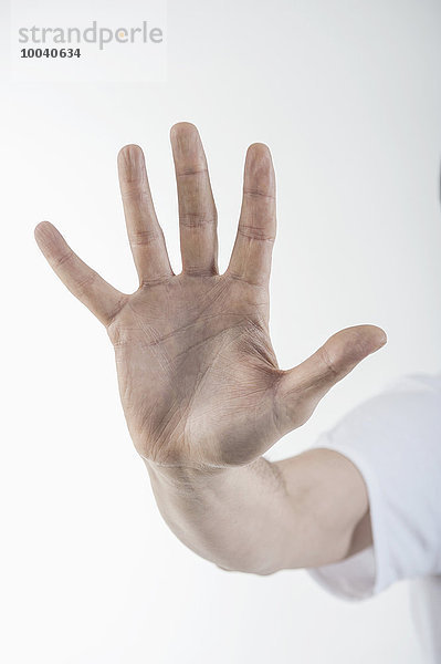
[[[175,535],[225,569],[265,574],[343,559],[367,512],[358,473],[329,450],[210,471],[147,467]]]

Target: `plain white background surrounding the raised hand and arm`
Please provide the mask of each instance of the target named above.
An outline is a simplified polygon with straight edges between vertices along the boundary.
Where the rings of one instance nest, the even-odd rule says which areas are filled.
[[[391,380],[440,370],[440,30],[435,0],[175,0],[167,83],[2,84],[1,661],[421,661],[406,584],[349,604],[303,571],[225,573],[178,542],[132,448],[105,331],[32,230],[50,219],[134,290],[115,157],[136,142],[178,270],[168,131],[188,120],[206,143],[225,267],[244,152],[266,142],[281,366],[349,324],[389,335],[272,457],[298,453]]]

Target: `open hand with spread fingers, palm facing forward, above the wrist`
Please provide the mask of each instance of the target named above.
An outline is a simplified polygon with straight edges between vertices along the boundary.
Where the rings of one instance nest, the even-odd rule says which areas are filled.
[[[243,203],[227,272],[217,266],[217,211],[196,127],[171,129],[182,272],[167,256],[143,152],[118,155],[128,238],[139,288],[123,294],[88,268],[48,221],[36,241],[69,290],[107,328],[119,393],[139,454],[162,466],[244,465],[301,426],[318,401],[385,342],[359,325],[281,371],[269,335],[275,178],[266,146],[246,154]]]

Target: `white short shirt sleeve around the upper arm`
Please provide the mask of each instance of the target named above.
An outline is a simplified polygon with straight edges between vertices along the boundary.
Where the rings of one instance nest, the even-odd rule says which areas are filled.
[[[312,577],[356,600],[402,579],[441,574],[441,375],[405,378],[353,411],[315,447],[343,454],[361,473],[374,546],[308,570]]]

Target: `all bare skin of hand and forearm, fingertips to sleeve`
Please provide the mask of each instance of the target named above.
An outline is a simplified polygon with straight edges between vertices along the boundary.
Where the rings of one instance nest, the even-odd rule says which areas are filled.
[[[262,144],[248,151],[237,240],[219,274],[217,210],[196,127],[175,125],[171,146],[180,274],[171,270],[144,155],[134,145],[118,155],[139,277],[134,293],[104,281],[48,221],[36,227],[36,241],[107,330],[130,436],[177,537],[223,569],[259,574],[342,560],[371,542],[358,470],[326,449],[273,464],[263,455],[302,426],[386,335],[374,325],[348,328],[300,365],[281,370],[269,334],[275,238],[270,152]],[[288,278],[294,286],[294,274]]]

